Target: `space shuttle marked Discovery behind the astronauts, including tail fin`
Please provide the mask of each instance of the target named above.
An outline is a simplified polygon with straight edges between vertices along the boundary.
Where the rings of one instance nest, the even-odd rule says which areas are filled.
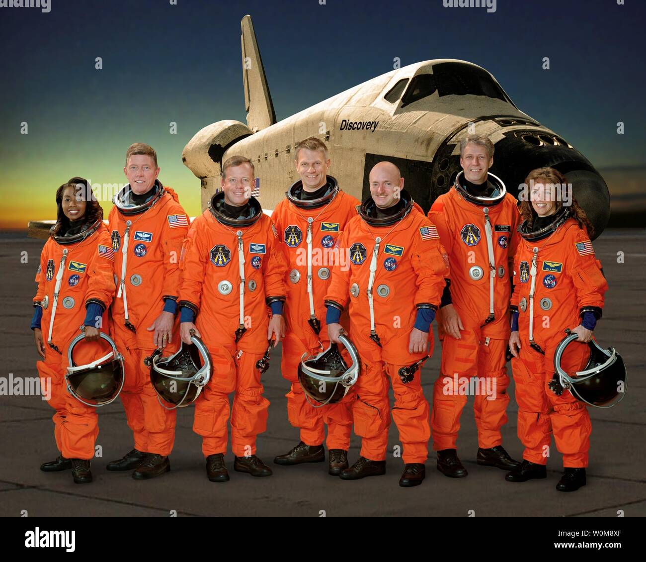
[[[562,136],[520,111],[485,69],[454,60],[428,60],[392,70],[276,122],[251,16],[242,25],[242,72],[247,124],[218,121],[198,131],[182,160],[202,182],[202,208],[220,188],[221,165],[232,155],[255,166],[262,207],[272,210],[298,179],[294,151],[316,136],[330,149],[330,173],[359,199],[380,160],[399,166],[406,189],[424,211],[448,191],[461,170],[459,142],[470,133],[495,146],[491,171],[512,195],[534,168],[565,174],[598,236],[610,216],[603,178]]]

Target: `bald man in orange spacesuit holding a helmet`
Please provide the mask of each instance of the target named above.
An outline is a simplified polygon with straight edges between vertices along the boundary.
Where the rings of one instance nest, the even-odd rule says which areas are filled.
[[[332,271],[326,294],[329,340],[339,341],[341,312],[349,306],[349,337],[361,358],[353,402],[360,457],[340,473],[343,480],[384,474],[393,385],[393,419],[406,464],[400,486],[422,483],[430,438],[429,406],[420,381],[435,318],[448,276],[448,261],[435,226],[417,211],[404,178],[391,162],[370,171],[370,197],[339,241],[348,260]],[[346,264],[343,267],[341,264]]]

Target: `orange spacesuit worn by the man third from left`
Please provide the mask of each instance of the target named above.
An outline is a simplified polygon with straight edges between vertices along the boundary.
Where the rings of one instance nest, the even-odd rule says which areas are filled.
[[[193,221],[182,251],[182,321],[185,308],[192,310],[213,362],[193,424],[205,457],[226,453],[229,413],[236,457],[255,455],[256,436],[267,428],[269,400],[256,362],[267,351],[267,305],[285,299],[286,263],[271,219],[253,197],[251,202],[260,216],[250,226],[228,226],[205,210]],[[242,336],[236,341],[238,329]]]

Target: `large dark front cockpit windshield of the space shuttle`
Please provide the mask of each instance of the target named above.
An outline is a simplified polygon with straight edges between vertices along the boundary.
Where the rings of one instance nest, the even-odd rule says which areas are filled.
[[[505,91],[486,70],[464,63],[438,63],[433,74],[419,74],[411,80],[402,107],[437,92],[442,96],[486,96],[511,103]]]

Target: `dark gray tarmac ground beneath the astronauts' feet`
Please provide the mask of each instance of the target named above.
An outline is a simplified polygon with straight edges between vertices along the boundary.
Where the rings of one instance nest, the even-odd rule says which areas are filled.
[[[265,395],[271,401],[266,433],[258,438],[258,455],[274,470],[269,478],[253,478],[233,471],[231,481],[215,484],[206,479],[200,437],[191,429],[193,408],[178,414],[171,471],[152,481],[134,481],[130,473],[109,473],[105,465],[132,448],[132,435],[121,404],[101,408],[97,444],[103,456],[92,461],[92,484],[72,482],[70,471],[43,473],[41,462],[57,455],[52,408],[40,396],[0,396],[0,515],[20,517],[169,517],[178,516],[288,516],[288,517],[625,517],[646,515],[645,433],[646,367],[644,327],[646,292],[646,231],[607,230],[594,243],[610,291],[603,319],[595,330],[601,345],[613,345],[629,371],[628,392],[620,405],[592,409],[592,445],[588,484],[576,493],[559,493],[554,486],[561,474],[561,455],[552,446],[547,480],[523,484],[505,482],[505,472],[475,464],[477,436],[470,397],[461,418],[458,452],[469,471],[464,479],[449,479],[435,470],[433,451],[426,481],[416,488],[399,488],[403,468],[392,451],[399,444],[393,423],[389,436],[386,475],[361,481],[341,481],[327,473],[327,462],[294,467],[274,465],[275,455],[298,442],[298,430],[287,420],[287,382],[280,375],[276,352],[264,376]],[[23,233],[0,234],[0,287],[3,310],[0,349],[4,373],[37,376],[37,352],[32,331],[34,276],[43,241]],[[21,263],[26,252],[28,263]],[[623,252],[624,263],[618,263]],[[437,336],[437,332],[435,334]],[[424,393],[432,396],[439,370],[440,348],[422,369]],[[513,383],[510,388],[513,397]],[[516,437],[516,402],[508,408],[503,428],[504,446],[520,458]],[[350,462],[359,455],[359,439],[352,438]],[[432,446],[429,447],[432,449]],[[473,511],[474,513],[471,513]]]

